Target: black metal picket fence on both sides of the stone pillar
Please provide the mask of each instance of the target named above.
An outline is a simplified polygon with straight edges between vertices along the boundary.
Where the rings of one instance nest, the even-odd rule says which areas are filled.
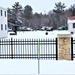
[[[74,41],[71,38],[71,59]],[[58,60],[56,39],[0,39],[0,59],[51,59]]]

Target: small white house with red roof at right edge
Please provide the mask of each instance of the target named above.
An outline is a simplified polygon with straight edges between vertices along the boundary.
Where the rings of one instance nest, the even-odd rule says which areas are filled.
[[[75,16],[68,17],[68,30],[75,33]]]

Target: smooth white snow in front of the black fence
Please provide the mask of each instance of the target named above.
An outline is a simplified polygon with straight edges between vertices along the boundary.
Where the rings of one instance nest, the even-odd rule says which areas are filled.
[[[40,60],[40,74],[75,74],[75,61]],[[38,75],[38,60],[0,59],[2,75]]]

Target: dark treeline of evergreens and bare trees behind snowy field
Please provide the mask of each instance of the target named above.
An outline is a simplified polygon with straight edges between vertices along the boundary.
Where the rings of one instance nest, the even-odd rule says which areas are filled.
[[[55,3],[53,10],[48,14],[35,12],[30,5],[24,8],[19,2],[15,2],[12,8],[8,8],[8,26],[14,28],[15,26],[30,27],[33,29],[40,29],[42,26],[50,26],[57,29],[60,26],[67,25],[67,18],[75,16],[75,4],[66,9],[65,3]]]

